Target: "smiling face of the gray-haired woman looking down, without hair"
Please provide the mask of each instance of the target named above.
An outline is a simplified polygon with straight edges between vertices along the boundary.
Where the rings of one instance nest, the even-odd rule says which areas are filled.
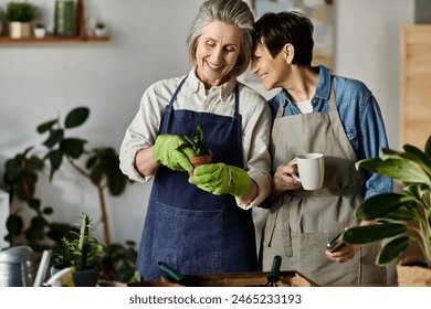
[[[213,21],[203,28],[196,47],[197,71],[206,88],[230,78],[241,49],[242,32],[233,24]]]

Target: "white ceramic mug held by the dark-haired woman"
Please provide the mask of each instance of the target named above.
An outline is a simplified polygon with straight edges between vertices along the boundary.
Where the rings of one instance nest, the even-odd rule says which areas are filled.
[[[322,153],[303,153],[297,157],[296,162],[298,174],[292,174],[301,182],[305,190],[320,189],[325,177],[325,161]]]

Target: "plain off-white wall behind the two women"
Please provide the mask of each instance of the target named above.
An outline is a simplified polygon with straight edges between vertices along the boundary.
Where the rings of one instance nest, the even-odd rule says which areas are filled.
[[[4,8],[7,0],[0,0]],[[54,1],[33,0],[46,11]],[[0,44],[0,174],[7,158],[40,143],[35,127],[78,105],[91,118],[76,135],[119,148],[139,98],[153,82],[188,72],[186,36],[202,0],[87,0],[87,15],[106,21],[108,43]],[[398,142],[399,29],[413,23],[413,0],[336,0],[335,73],[364,81],[380,103],[390,145]],[[43,15],[46,21],[52,12]],[[260,85],[252,85],[266,97]],[[46,180],[42,179],[42,182]],[[38,194],[53,220],[101,215],[97,192],[65,169]],[[45,188],[48,187],[48,188]],[[108,199],[112,237],[138,241],[150,184]],[[102,226],[96,226],[102,233]],[[96,234],[97,235],[97,234]],[[101,234],[102,235],[102,234]],[[1,235],[2,236],[2,235]]]

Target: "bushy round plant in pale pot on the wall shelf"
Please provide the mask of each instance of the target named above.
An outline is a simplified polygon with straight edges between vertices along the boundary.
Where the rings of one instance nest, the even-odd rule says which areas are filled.
[[[9,21],[9,35],[12,39],[30,36],[30,22],[36,15],[35,7],[30,2],[7,3],[4,18]]]

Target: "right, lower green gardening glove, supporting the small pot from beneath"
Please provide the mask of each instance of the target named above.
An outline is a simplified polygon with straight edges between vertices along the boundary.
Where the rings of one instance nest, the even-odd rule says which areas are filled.
[[[251,183],[244,170],[224,163],[200,166],[195,169],[193,173],[189,182],[214,195],[230,193],[242,198],[249,191]]]

